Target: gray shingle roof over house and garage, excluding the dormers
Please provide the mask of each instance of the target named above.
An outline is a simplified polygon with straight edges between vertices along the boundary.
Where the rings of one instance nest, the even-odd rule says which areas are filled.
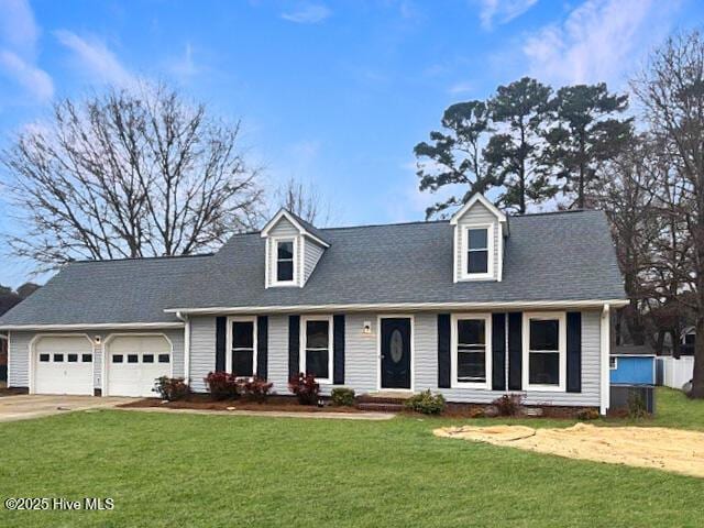
[[[320,230],[304,288],[264,288],[264,240],[232,237],[212,256],[67,266],[0,326],[176,321],[166,308],[625,298],[604,213],[510,218],[504,277],[452,282],[452,227],[418,222]]]

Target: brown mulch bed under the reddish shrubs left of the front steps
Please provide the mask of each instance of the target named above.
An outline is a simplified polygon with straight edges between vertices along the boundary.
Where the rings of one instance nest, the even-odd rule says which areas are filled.
[[[144,398],[122,404],[119,407],[166,407],[169,409],[200,409],[200,410],[258,410],[285,413],[364,413],[355,407],[336,407],[326,405],[300,405],[296,398],[287,396],[271,396],[266,403],[246,402],[244,399],[226,399],[216,402],[207,394],[194,394],[180,402],[163,402],[158,398]],[[230,408],[228,408],[230,407]]]

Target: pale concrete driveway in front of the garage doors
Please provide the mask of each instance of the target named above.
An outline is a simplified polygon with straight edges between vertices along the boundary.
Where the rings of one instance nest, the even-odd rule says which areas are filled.
[[[110,408],[132,400],[133,398],[96,396],[3,396],[0,398],[0,422],[29,420],[72,410]]]

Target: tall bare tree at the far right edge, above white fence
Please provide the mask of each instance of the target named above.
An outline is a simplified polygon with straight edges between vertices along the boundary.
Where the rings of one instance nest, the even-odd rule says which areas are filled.
[[[671,37],[650,57],[632,82],[652,133],[663,142],[675,170],[667,198],[669,215],[682,233],[669,245],[686,255],[676,274],[673,300],[693,309],[696,324],[691,395],[704,398],[704,38],[697,31]],[[676,243],[675,243],[676,242]],[[668,263],[672,266],[673,262]],[[684,289],[683,289],[684,288]],[[689,293],[690,295],[681,295]],[[691,299],[691,300],[688,300]]]

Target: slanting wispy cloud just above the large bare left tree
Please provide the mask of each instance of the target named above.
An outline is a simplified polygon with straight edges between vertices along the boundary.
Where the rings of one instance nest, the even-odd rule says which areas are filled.
[[[103,42],[87,40],[77,34],[58,30],[54,35],[64,46],[70,50],[87,75],[94,80],[113,84],[123,88],[138,85],[138,79],[108,50]]]

